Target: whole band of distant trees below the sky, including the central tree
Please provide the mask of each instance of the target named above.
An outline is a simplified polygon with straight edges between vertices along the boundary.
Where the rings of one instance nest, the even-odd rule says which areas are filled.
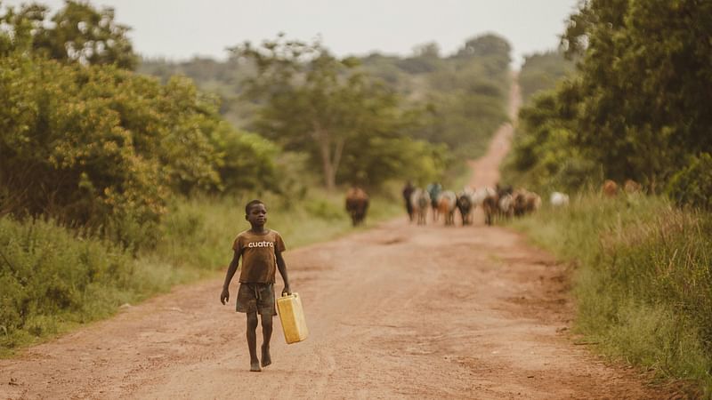
[[[422,44],[409,57],[372,53],[338,59],[320,43],[279,36],[235,46],[224,62],[142,60],[139,71],[162,80],[190,76],[223,99],[221,112],[232,123],[307,151],[327,186],[377,186],[399,175],[435,179],[448,159],[481,155],[507,119],[510,52],[503,38],[484,35],[465,41],[450,56],[441,56],[437,44]],[[319,96],[330,101],[312,101]],[[331,142],[331,156],[328,146],[311,144],[313,116],[320,114],[328,116],[320,124],[332,124],[329,140],[340,138]],[[298,118],[287,124],[287,115]]]

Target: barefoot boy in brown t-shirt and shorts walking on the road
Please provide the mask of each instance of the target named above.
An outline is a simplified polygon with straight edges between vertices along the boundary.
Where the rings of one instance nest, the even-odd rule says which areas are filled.
[[[241,232],[232,244],[234,254],[228,267],[220,301],[225,304],[230,300],[230,282],[238,269],[242,257],[242,269],[239,274],[238,299],[236,311],[247,313],[247,347],[250,351],[250,371],[260,372],[260,360],[257,358],[257,314],[262,316],[262,366],[271,364],[270,339],[272,335],[272,317],[277,314],[274,300],[275,271],[284,281],[282,294],[291,293],[287,278],[287,264],[282,258],[285,251],[282,236],[275,230],[264,227],[267,222],[267,207],[260,200],[253,200],[245,206],[245,220],[251,228]]]

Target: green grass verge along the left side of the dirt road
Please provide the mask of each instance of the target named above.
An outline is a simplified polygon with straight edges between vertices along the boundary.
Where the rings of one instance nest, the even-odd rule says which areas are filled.
[[[52,220],[0,218],[0,356],[113,315],[175,284],[222,276],[237,234],[249,228],[252,196],[177,201],[156,248],[133,252]],[[268,227],[288,249],[353,231],[344,195],[313,190],[301,199],[263,196]],[[372,198],[366,228],[397,214],[392,196]],[[288,258],[287,258],[288,260]]]

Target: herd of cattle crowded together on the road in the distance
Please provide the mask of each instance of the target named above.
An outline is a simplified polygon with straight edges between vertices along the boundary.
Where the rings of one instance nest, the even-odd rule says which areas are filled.
[[[473,223],[473,212],[480,207],[485,215],[485,223],[492,225],[497,220],[521,217],[535,212],[541,206],[541,197],[524,188],[464,188],[459,193],[442,190],[439,184],[427,188],[403,189],[406,209],[410,220],[425,225],[426,215],[432,211],[433,222],[442,216],[445,225],[455,225],[455,214],[459,212],[462,225]]]

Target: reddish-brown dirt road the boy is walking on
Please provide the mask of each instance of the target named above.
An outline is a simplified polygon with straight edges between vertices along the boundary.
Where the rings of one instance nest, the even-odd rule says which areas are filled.
[[[511,134],[473,183],[497,180]],[[263,372],[248,372],[245,317],[215,279],[0,361],[0,398],[657,397],[573,343],[564,266],[481,218],[403,217],[285,258],[311,335],[287,346],[276,324]]]

